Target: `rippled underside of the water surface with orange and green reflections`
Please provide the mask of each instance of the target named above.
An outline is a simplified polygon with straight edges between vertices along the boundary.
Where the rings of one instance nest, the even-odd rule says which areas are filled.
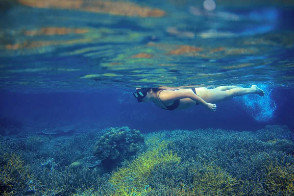
[[[175,0],[17,2],[0,23],[0,84],[6,90],[50,89],[56,83],[78,90],[97,84],[294,81],[294,57],[288,54],[294,33],[281,28],[288,18],[279,6],[228,6],[213,0],[180,5]]]

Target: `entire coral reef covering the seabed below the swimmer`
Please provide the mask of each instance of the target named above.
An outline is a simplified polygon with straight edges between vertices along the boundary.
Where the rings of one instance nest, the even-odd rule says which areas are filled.
[[[47,152],[35,149],[44,141],[38,137],[2,141],[0,194],[294,195],[293,135],[286,126],[257,132],[196,129],[147,134],[109,128],[61,140]],[[113,154],[115,148],[120,154]],[[107,156],[103,159],[99,150],[99,157],[93,156],[93,149],[105,149]],[[122,162],[105,170],[105,160]]]

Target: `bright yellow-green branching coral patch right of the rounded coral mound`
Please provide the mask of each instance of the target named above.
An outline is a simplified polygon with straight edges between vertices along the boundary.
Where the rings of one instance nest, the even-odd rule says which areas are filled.
[[[112,173],[110,183],[114,186],[115,195],[141,195],[150,191],[149,178],[156,166],[165,167],[179,164],[180,158],[167,149],[168,143],[163,141],[147,152],[143,152],[127,167]]]

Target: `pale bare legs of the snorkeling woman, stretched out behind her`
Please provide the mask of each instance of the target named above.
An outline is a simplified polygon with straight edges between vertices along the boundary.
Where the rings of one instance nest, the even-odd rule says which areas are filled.
[[[258,88],[255,85],[252,85],[251,88],[232,88],[230,90],[218,90],[207,89],[207,88],[196,88],[196,93],[200,98],[203,98],[208,103],[216,103],[233,97],[248,95],[248,94],[257,94],[259,96],[264,96],[263,90]]]

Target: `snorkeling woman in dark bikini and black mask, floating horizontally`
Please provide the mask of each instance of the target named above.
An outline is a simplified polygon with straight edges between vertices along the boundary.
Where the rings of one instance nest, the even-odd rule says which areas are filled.
[[[138,102],[153,101],[156,106],[165,110],[182,110],[200,104],[214,112],[217,109],[215,103],[248,94],[257,94],[261,97],[265,95],[256,85],[252,85],[251,88],[219,86],[214,89],[137,88],[133,93]]]

